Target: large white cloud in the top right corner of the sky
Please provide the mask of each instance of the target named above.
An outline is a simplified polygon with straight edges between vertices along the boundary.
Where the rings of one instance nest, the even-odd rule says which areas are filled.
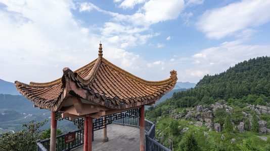
[[[270,1],[243,0],[206,11],[196,23],[208,38],[221,39],[270,21]],[[242,33],[241,33],[242,32]]]

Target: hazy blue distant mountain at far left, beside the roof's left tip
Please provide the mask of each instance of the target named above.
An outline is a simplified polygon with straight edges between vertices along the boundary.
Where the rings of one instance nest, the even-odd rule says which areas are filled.
[[[0,79],[0,94],[21,95],[14,83],[10,83]]]

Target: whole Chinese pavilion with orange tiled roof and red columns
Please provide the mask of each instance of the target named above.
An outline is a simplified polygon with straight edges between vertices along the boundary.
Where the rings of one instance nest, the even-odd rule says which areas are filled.
[[[84,130],[84,150],[92,150],[93,128],[97,127],[93,119],[99,119],[100,127],[105,127],[116,113],[125,111],[128,116],[140,116],[140,150],[145,150],[144,106],[155,104],[174,88],[176,71],[170,71],[166,80],[146,81],[112,64],[102,52],[100,44],[97,59],[75,71],[65,67],[62,78],[55,81],[29,85],[15,82],[34,107],[52,111],[50,150],[56,148],[57,120],[68,119]]]

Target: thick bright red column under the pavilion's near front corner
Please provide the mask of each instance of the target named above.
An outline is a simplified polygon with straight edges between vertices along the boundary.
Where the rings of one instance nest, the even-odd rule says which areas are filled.
[[[84,117],[84,151],[92,151],[92,129],[93,129],[93,118]]]

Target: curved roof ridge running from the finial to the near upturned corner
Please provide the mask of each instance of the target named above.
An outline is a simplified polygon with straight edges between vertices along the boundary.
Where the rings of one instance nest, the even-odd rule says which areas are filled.
[[[102,57],[98,57],[95,65],[93,66],[93,68],[91,69],[91,71],[88,73],[87,77],[82,78],[80,77],[79,74],[76,75],[76,78],[78,79],[78,81],[80,83],[82,83],[83,85],[89,85],[89,83],[92,82],[92,80],[94,79],[99,67],[100,67],[100,63],[101,63]]]

